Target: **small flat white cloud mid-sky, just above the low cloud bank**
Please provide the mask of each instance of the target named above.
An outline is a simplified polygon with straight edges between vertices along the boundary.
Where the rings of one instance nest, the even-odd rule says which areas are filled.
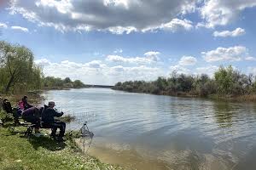
[[[159,52],[150,51],[145,53],[145,57],[122,57],[119,55],[108,55],[108,61],[117,63],[130,63],[130,64],[152,64],[159,61]]]

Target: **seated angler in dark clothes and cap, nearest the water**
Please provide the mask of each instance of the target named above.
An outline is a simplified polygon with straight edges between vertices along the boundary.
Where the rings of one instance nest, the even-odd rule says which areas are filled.
[[[59,138],[58,140],[63,140],[65,129],[66,129],[66,123],[65,122],[57,122],[55,121],[55,116],[60,117],[63,115],[63,112],[58,112],[54,109],[55,102],[50,101],[48,108],[44,108],[44,111],[42,113],[42,122],[44,127],[50,127],[51,128],[51,137],[56,139],[56,131],[57,128],[60,129]]]

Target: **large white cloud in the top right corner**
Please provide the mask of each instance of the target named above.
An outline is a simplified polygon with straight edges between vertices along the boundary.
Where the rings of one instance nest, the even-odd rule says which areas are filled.
[[[213,28],[215,26],[225,26],[245,8],[256,6],[255,0],[207,0],[200,8],[201,17],[205,20],[198,26]]]

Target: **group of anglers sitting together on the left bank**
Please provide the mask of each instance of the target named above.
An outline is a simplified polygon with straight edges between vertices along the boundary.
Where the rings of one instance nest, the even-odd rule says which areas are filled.
[[[40,136],[39,132],[40,127],[51,128],[50,136],[53,139],[62,141],[66,123],[55,120],[55,117],[60,117],[63,115],[63,112],[59,112],[55,110],[55,102],[50,101],[48,105],[44,105],[43,107],[36,107],[28,104],[27,96],[24,96],[20,102],[18,103],[17,109],[13,109],[8,99],[0,98],[0,111],[6,111],[7,113],[12,113],[14,116],[15,124],[20,124],[19,117],[26,122],[31,122],[35,127],[35,136]],[[57,129],[60,129],[60,133],[56,135]]]

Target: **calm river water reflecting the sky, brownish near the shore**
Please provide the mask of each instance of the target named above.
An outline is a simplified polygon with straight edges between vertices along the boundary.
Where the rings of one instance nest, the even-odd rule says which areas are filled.
[[[95,133],[90,155],[131,169],[256,169],[256,105],[129,94],[49,91],[59,110]]]

